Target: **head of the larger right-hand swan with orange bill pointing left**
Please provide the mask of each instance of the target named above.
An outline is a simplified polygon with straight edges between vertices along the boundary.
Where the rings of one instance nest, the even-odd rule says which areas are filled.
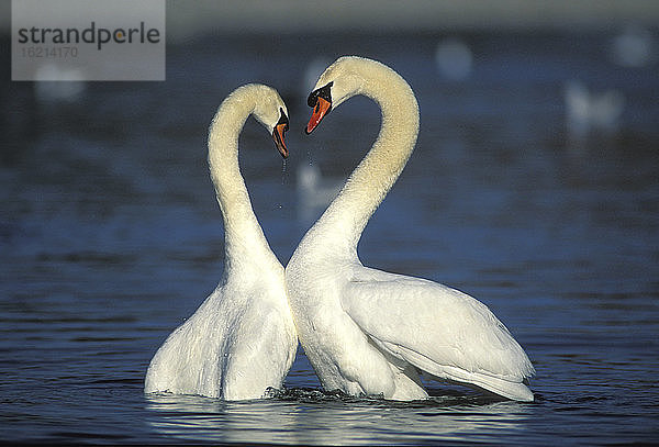
[[[313,113],[306,124],[305,132],[309,135],[330,113],[342,102],[355,94],[364,92],[367,75],[382,64],[358,56],[344,56],[336,59],[334,64],[323,71],[306,103],[313,108]]]

